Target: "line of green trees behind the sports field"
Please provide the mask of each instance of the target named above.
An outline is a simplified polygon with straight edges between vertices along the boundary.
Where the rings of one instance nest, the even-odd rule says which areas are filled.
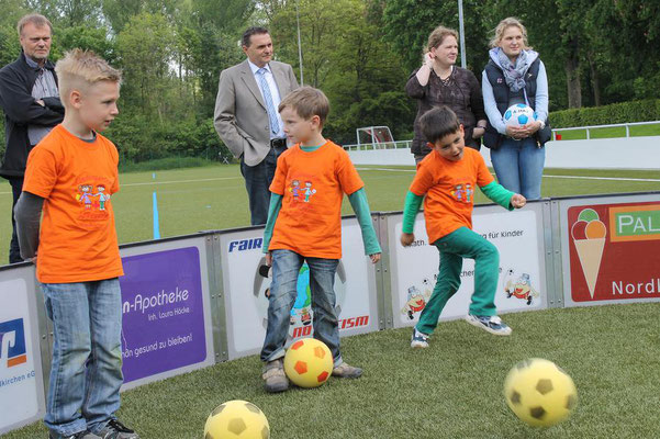
[[[548,70],[550,110],[660,98],[656,0],[463,0],[466,60],[478,78],[505,16],[527,26]],[[0,0],[0,65],[20,53],[15,24],[54,25],[51,58],[92,49],[122,69],[121,114],[107,132],[125,160],[228,156],[213,128],[220,71],[242,61],[249,25],[271,32],[276,59],[321,88],[325,134],[355,143],[360,126],[412,137],[416,104],[403,87],[438,24],[459,29],[458,2],[432,0]],[[512,9],[515,5],[515,9]],[[2,117],[3,119],[3,117]],[[1,127],[0,127],[1,128]],[[3,148],[4,145],[0,146]]]

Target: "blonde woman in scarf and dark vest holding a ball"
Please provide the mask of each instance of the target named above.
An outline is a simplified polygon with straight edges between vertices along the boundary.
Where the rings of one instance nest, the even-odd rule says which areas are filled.
[[[548,77],[539,55],[527,45],[527,30],[514,18],[504,19],[491,40],[483,70],[482,93],[489,123],[483,143],[491,149],[497,181],[527,200],[540,198],[548,125]],[[504,124],[513,104],[534,109],[538,119],[523,127]]]

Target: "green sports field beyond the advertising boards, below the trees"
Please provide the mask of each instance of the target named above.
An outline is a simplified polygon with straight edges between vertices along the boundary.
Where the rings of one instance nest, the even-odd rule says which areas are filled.
[[[372,211],[403,210],[413,167],[359,166]],[[546,169],[542,196],[659,191],[660,172],[634,170]],[[249,225],[245,181],[237,165],[120,175],[121,190],[111,199],[120,244],[153,238],[156,191],[160,236]],[[481,192],[477,203],[490,202]],[[0,263],[7,263],[11,237],[11,187],[0,180]],[[345,198],[343,213],[353,214]]]

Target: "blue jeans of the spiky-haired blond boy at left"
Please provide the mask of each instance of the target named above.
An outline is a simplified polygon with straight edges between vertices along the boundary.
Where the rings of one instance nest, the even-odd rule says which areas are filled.
[[[43,283],[53,320],[44,423],[56,435],[98,431],[120,407],[122,296],[118,278]]]

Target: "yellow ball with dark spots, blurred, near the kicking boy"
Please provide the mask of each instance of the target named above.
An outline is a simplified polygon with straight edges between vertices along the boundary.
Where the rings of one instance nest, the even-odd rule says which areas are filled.
[[[578,403],[578,391],[573,380],[552,361],[533,358],[508,372],[504,397],[521,420],[549,427],[569,417]]]

